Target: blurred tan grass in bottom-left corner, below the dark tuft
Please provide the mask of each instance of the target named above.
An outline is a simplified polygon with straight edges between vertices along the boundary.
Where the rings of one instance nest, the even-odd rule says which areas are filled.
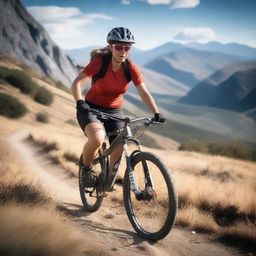
[[[0,207],[0,216],[1,255],[109,255],[54,212],[13,206]]]

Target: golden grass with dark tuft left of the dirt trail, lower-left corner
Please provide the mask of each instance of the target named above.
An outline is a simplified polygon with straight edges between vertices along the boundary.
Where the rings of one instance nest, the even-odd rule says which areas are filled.
[[[110,255],[61,216],[35,174],[3,141],[0,152],[0,255]]]

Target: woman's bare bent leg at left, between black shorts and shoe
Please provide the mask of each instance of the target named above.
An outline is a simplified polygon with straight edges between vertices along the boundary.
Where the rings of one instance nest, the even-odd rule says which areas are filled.
[[[105,129],[102,124],[93,122],[85,127],[84,132],[87,136],[87,141],[83,150],[83,162],[85,166],[89,167],[104,142]]]

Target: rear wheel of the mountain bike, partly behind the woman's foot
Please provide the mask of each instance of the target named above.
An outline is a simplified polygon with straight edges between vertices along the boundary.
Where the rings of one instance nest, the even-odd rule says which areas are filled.
[[[98,176],[101,172],[101,162],[99,161],[99,158],[93,161],[92,168]],[[100,208],[103,200],[103,194],[98,191],[98,188],[85,188],[82,185],[81,167],[79,167],[79,191],[86,211],[95,212]]]

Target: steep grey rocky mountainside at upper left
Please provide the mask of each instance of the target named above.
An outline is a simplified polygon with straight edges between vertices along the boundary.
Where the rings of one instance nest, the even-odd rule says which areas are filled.
[[[0,0],[0,52],[67,86],[77,69],[19,0]]]

